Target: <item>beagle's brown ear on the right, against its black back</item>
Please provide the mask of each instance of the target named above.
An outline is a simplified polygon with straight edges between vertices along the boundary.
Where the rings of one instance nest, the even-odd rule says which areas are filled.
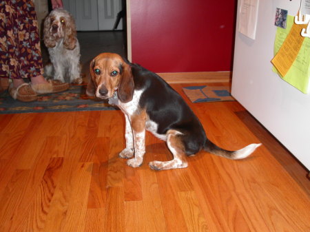
[[[134,96],[134,78],[132,76],[132,69],[127,63],[123,63],[123,70],[121,72],[121,81],[118,84],[118,99],[122,103],[132,101]]]

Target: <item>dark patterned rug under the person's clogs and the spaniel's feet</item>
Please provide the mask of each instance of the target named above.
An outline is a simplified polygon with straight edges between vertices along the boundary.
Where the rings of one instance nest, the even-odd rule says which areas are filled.
[[[16,101],[8,94],[8,91],[5,91],[0,94],[0,114],[117,109],[105,101],[87,96],[86,86],[85,83],[71,85],[65,92],[41,95],[38,101],[30,103]]]

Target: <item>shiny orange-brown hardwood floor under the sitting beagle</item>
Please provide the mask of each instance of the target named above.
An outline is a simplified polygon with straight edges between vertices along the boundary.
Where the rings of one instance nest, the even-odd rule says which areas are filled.
[[[263,145],[245,160],[201,152],[153,171],[172,156],[147,133],[133,169],[118,158],[120,111],[0,114],[0,231],[310,231],[308,171],[239,103],[189,105],[217,145]]]

